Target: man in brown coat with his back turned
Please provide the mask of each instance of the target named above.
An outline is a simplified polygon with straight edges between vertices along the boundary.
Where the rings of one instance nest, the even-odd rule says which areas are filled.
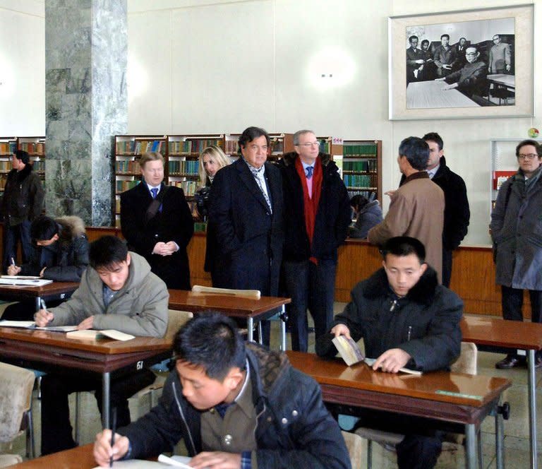
[[[405,180],[390,194],[390,208],[384,221],[371,228],[368,240],[384,244],[395,236],[419,239],[426,247],[426,261],[442,283],[442,225],[444,193],[426,172],[429,147],[418,137],[405,138],[399,146],[399,170]]]

